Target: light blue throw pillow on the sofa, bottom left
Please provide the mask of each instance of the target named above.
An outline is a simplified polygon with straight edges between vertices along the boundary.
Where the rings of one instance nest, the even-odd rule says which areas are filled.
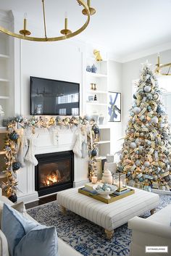
[[[57,231],[20,215],[4,204],[2,228],[9,244],[10,256],[57,256]]]

